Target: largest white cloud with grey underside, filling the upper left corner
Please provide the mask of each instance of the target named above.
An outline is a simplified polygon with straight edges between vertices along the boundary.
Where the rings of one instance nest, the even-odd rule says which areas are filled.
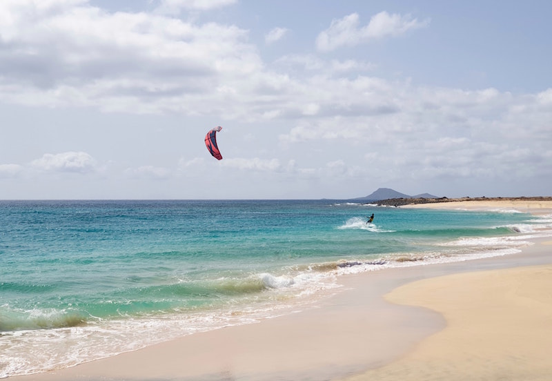
[[[79,1],[0,1],[0,100],[162,113],[198,108],[262,66],[247,32]],[[39,5],[40,4],[40,5]],[[198,97],[202,94],[203,97]],[[215,108],[215,110],[213,109]]]

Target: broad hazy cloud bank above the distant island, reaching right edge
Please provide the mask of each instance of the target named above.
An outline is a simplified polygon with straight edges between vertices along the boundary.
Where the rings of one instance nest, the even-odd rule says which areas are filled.
[[[544,163],[552,157],[552,135],[546,133],[552,108],[542,106],[549,90],[513,95],[494,88],[467,91],[370,77],[326,78],[315,87],[321,112],[298,120],[279,135],[279,141],[292,147],[288,149],[317,150],[335,159],[327,170],[336,175],[364,171],[381,182],[436,178],[507,182],[513,174],[524,179],[551,174],[552,167]],[[332,105],[322,100],[330,88],[335,114],[325,115],[322,110]],[[374,107],[378,101],[382,107]],[[351,158],[339,155],[360,153],[364,166],[346,170]]]

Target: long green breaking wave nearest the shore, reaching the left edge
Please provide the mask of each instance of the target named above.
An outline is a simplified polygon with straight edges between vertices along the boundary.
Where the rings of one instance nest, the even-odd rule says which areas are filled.
[[[103,320],[212,309],[224,304],[228,298],[255,297],[264,291],[289,289],[297,284],[299,288],[308,288],[308,282],[313,281],[303,274],[296,275],[297,278],[286,274],[256,273],[194,282],[176,280],[172,284],[130,287],[86,304],[72,302],[72,306],[60,304],[43,309],[36,306],[11,308],[4,304],[0,306],[0,332],[62,329]]]

